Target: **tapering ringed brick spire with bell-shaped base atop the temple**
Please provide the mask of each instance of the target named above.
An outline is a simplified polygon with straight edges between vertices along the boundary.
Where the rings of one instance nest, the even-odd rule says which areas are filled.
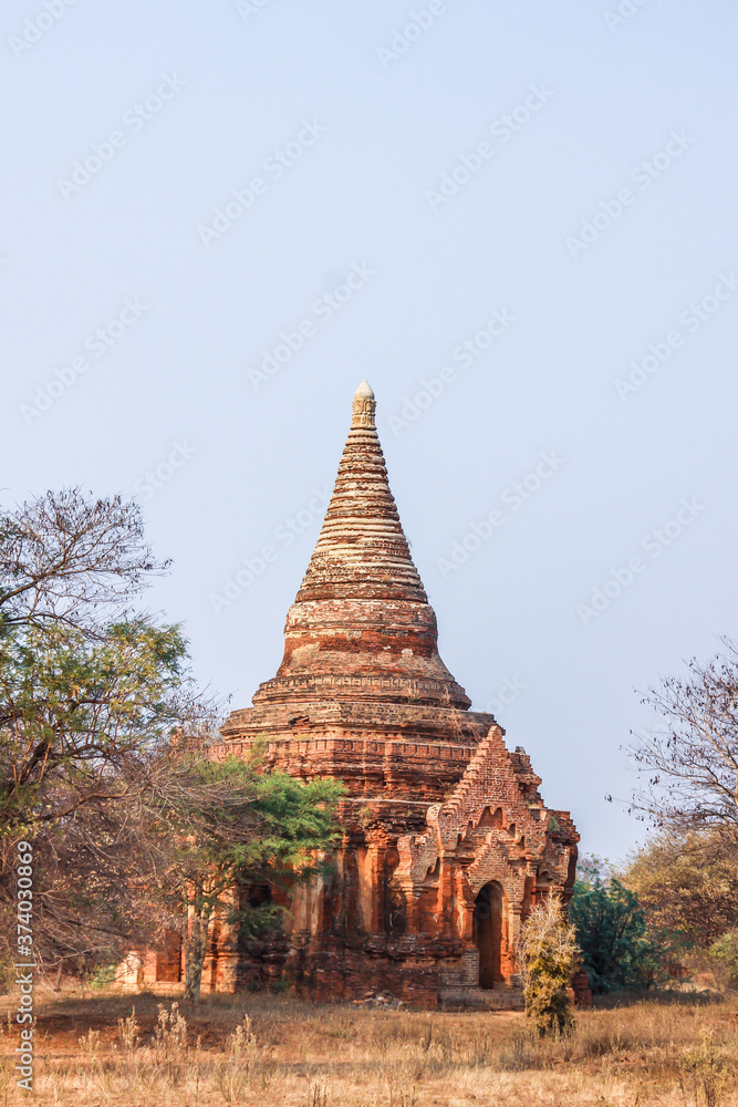
[[[323,527],[287,617],[284,658],[254,704],[319,694],[469,706],[438,655],[436,615],[389,490],[375,408],[362,381]]]

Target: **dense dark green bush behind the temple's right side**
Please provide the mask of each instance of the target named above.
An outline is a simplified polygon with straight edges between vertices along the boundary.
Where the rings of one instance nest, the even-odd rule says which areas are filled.
[[[569,904],[582,963],[593,992],[651,987],[667,975],[668,937],[648,934],[638,897],[594,866],[578,880]]]

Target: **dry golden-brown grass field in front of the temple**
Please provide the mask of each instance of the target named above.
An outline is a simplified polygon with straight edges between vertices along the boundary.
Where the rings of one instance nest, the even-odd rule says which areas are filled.
[[[547,1042],[517,1013],[260,994],[176,1002],[111,992],[42,1002],[32,1094],[14,1085],[18,1028],[6,1015],[0,1107],[738,1105],[735,1001],[628,1001],[580,1012],[571,1037]]]

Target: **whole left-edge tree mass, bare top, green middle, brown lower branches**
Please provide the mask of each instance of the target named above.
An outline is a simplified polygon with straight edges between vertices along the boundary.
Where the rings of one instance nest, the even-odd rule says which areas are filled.
[[[50,956],[84,956],[141,914],[123,910],[133,816],[171,730],[208,712],[180,628],[136,610],[165,569],[121,497],[67,489],[0,513],[0,907],[14,842],[32,839]]]

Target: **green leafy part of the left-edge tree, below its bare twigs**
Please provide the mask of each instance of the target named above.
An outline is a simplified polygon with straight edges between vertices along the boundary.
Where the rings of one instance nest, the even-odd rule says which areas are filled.
[[[35,836],[124,790],[121,770],[179,721],[187,644],[138,618],[94,639],[63,623],[0,639],[0,835]]]

